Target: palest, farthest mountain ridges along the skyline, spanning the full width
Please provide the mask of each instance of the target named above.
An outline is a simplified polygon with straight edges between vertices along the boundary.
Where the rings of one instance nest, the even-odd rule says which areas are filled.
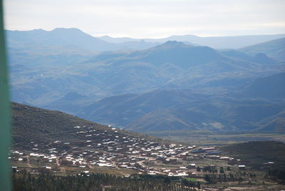
[[[194,35],[170,36],[167,38],[112,38],[110,36],[94,37],[80,29],[56,28],[52,31],[34,29],[31,31],[6,30],[9,47],[16,49],[26,48],[30,51],[118,51],[142,50],[157,46],[167,41],[182,41],[188,45],[209,46],[211,48],[242,48],[256,43],[263,43],[277,38],[284,38],[285,34],[251,35],[251,36],[210,36],[200,37]],[[53,51],[56,53],[56,51]]]

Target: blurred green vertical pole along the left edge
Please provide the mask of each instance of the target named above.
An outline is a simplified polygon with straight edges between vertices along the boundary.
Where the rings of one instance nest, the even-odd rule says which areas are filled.
[[[11,141],[10,100],[6,63],[3,2],[0,0],[0,190],[11,190],[8,153]]]

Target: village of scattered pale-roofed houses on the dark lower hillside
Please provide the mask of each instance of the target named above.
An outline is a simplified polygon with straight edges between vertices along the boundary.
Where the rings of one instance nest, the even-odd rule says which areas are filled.
[[[53,140],[51,143],[33,140],[25,150],[11,150],[11,163],[22,162],[53,171],[54,166],[78,167],[88,174],[96,167],[132,170],[137,174],[199,177],[199,166],[193,161],[223,161],[239,170],[246,166],[241,160],[221,156],[215,146],[164,144],[136,136],[126,136],[122,129],[102,130],[96,127],[76,126],[72,141]],[[214,162],[210,165],[215,167]],[[16,169],[17,166],[14,166]],[[128,173],[125,173],[128,176]]]

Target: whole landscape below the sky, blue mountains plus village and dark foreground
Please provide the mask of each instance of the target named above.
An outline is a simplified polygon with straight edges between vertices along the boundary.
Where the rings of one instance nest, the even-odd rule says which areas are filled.
[[[18,190],[285,189],[284,34],[6,34]]]

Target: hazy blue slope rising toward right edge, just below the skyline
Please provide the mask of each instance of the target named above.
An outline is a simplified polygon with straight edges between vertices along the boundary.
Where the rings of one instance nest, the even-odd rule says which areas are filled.
[[[275,58],[277,61],[285,61],[285,38],[279,38],[264,43],[257,43],[252,46],[240,48],[239,51],[255,55],[257,53],[265,53],[271,58]]]

